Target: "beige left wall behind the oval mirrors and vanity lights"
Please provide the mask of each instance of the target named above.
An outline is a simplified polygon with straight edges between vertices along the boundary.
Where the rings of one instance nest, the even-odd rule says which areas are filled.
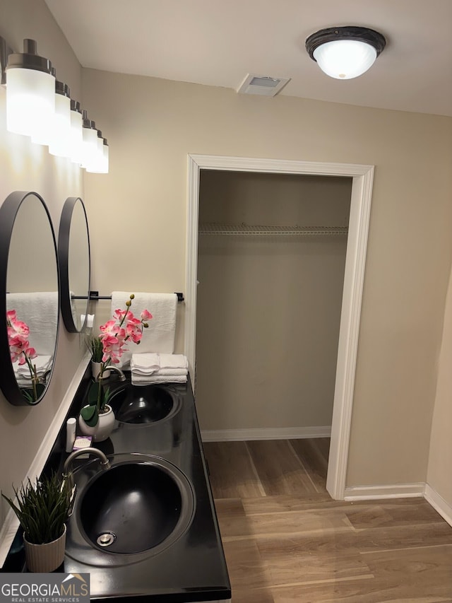
[[[81,66],[43,0],[1,0],[0,35],[17,52],[22,51],[24,37],[37,40],[40,54],[52,60],[57,76],[69,84],[74,98],[81,98]],[[15,190],[40,193],[49,208],[57,236],[64,200],[73,195],[83,197],[81,170],[66,160],[50,156],[47,149],[31,144],[25,136],[6,132],[5,98],[6,90],[1,86],[0,203]],[[33,250],[31,238],[25,242],[23,262],[32,264]],[[42,266],[35,265],[36,274],[41,270]],[[80,362],[83,349],[79,339],[77,335],[66,334],[61,322],[54,375],[40,404],[34,408],[11,406],[0,392],[0,489],[4,493],[12,492],[11,484],[20,485],[35,459]],[[1,527],[9,509],[3,499],[0,508]]]

